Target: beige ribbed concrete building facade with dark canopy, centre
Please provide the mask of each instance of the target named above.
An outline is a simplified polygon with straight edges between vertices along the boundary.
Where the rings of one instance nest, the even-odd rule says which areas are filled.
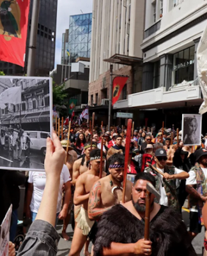
[[[114,76],[129,76],[120,99],[141,91],[144,2],[93,0],[89,111],[96,111],[97,119],[107,114],[112,59],[119,63],[113,64]],[[107,124],[107,116],[104,121]]]

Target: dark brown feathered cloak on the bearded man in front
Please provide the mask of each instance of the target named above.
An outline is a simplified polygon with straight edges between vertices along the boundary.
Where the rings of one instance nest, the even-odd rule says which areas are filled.
[[[111,243],[136,243],[144,237],[144,221],[137,219],[123,205],[115,205],[98,221],[94,256],[102,255]],[[150,222],[153,256],[196,256],[179,212],[161,206]]]

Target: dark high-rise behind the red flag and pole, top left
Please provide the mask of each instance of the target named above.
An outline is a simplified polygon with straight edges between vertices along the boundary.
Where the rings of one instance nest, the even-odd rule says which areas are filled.
[[[30,1],[29,30],[27,34],[27,47],[31,30],[33,0]],[[49,72],[54,68],[55,47],[56,47],[56,19],[57,0],[44,0],[40,3],[40,14],[38,20],[38,35],[36,42],[35,76],[49,76]],[[27,66],[26,49],[26,65]],[[0,70],[8,76],[26,74],[24,68],[0,61]]]

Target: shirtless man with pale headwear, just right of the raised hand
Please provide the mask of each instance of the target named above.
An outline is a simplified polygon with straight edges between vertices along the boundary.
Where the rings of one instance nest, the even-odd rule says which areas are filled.
[[[67,148],[67,143],[68,143],[67,140],[62,140],[61,141],[61,145],[63,146],[63,148],[65,150]],[[70,141],[69,141],[68,157],[67,157],[67,161],[66,161],[66,166],[68,167],[68,169],[70,171],[70,176],[71,177],[72,177],[72,173],[73,173],[73,163],[75,162],[75,160],[77,160],[77,153],[75,152],[75,150],[73,150],[72,147],[70,147]],[[63,201],[64,201],[64,199],[63,199]],[[71,198],[70,198],[70,202],[69,202],[69,205],[68,205],[67,216],[63,220],[62,236],[63,236],[63,239],[66,240],[66,241],[68,241],[70,239],[70,237],[66,234],[66,228],[68,227],[68,224],[70,222],[70,212],[72,210],[72,205],[73,205],[73,196],[71,196]]]

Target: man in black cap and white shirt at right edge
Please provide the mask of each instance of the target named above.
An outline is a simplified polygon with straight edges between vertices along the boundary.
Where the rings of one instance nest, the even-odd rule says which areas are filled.
[[[207,201],[207,150],[200,148],[194,153],[195,166],[190,169],[190,177],[186,180],[186,191],[190,194],[190,231],[194,239],[201,233],[203,222],[202,209]]]

